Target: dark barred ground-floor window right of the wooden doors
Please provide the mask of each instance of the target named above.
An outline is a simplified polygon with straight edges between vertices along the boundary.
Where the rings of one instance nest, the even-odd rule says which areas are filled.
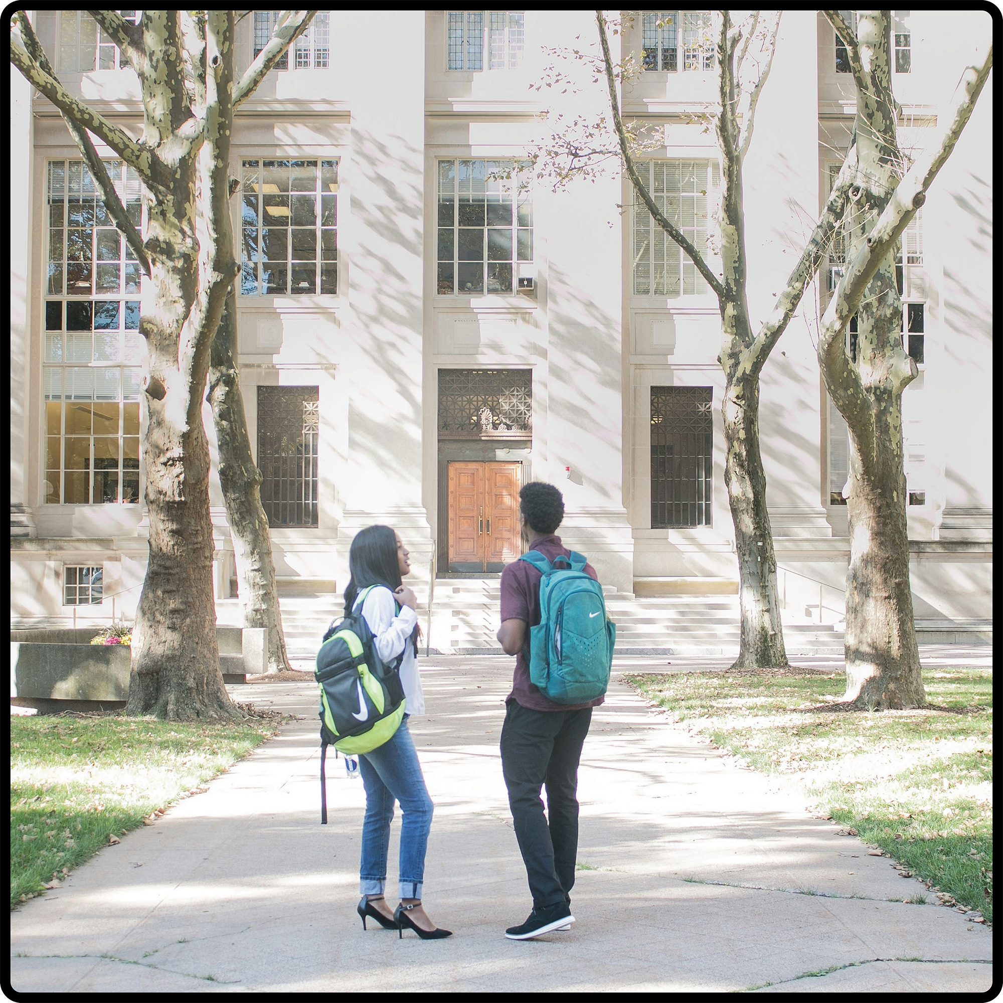
[[[651,528],[710,526],[713,388],[651,388]]]

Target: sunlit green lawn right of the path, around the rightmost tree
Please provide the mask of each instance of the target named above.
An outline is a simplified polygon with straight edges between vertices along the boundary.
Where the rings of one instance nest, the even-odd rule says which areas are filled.
[[[625,676],[753,769],[795,777],[820,813],[993,918],[992,669],[923,673],[936,709],[829,710],[842,672]]]

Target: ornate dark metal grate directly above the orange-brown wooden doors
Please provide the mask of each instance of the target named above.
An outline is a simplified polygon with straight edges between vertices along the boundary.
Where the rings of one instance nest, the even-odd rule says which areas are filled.
[[[440,369],[439,438],[528,438],[532,369]]]

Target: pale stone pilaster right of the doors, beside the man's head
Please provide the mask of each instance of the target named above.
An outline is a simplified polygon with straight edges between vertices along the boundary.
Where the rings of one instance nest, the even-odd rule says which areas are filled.
[[[589,11],[540,17],[561,36],[580,31],[583,38],[595,37],[595,15]],[[619,46],[619,37],[611,41]],[[575,110],[594,120],[607,111],[608,98],[602,87],[585,82],[578,104]],[[544,186],[538,189],[536,226],[547,248],[541,296],[549,332],[549,468],[534,474],[553,480],[564,493],[566,516],[558,533],[565,545],[588,556],[603,584],[631,593],[634,543],[623,505],[622,264],[617,240],[617,204],[622,201],[620,178],[612,173],[594,184],[574,183],[558,195]]]

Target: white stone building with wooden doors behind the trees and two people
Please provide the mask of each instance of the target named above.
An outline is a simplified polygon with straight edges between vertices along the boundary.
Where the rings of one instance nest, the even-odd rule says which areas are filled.
[[[990,19],[895,15],[902,145],[923,147]],[[713,57],[693,44],[707,18],[641,12],[613,39],[647,67],[624,108],[664,126],[650,178],[698,242],[718,174],[713,133],[687,120],[715,93]],[[63,82],[137,134],[135,77],[93,22],[32,19]],[[241,66],[270,30],[268,12],[241,21]],[[559,484],[562,536],[619,594],[733,591],[713,295],[619,174],[557,194],[491,177],[542,134],[543,109],[603,107],[600,87],[531,89],[544,46],[594,37],[590,11],[322,12],[238,112],[239,363],[287,594],[343,588],[349,543],[373,522],[407,543],[422,601],[433,552],[443,579],[490,576],[519,553],[529,478]],[[840,62],[820,14],[784,12],[745,163],[754,318],[849,140]],[[141,291],[59,114],[13,69],[11,87],[12,622],[107,618],[112,604],[131,618],[146,555]],[[921,370],[905,394],[912,581],[931,640],[991,636],[992,100],[990,79],[905,242]],[[827,275],[763,370],[761,432],[787,614],[839,624],[846,430],[812,345]],[[208,407],[205,420],[212,442]]]

